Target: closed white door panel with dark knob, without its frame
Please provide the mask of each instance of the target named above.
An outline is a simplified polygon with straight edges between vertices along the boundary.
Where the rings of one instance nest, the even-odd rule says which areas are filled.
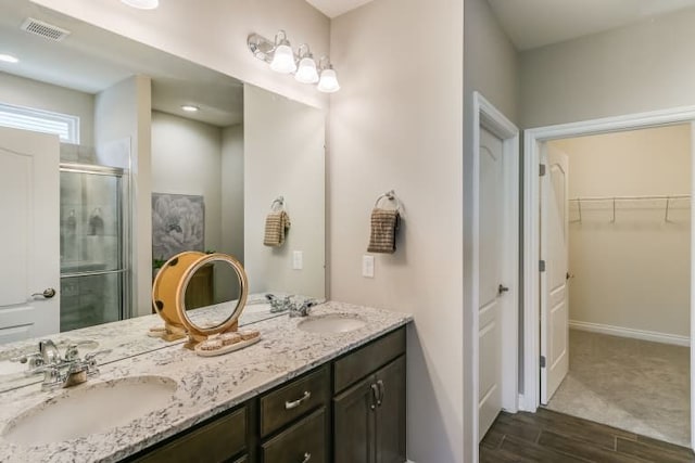
[[[503,142],[480,128],[479,438],[502,410],[502,281],[504,247]]]

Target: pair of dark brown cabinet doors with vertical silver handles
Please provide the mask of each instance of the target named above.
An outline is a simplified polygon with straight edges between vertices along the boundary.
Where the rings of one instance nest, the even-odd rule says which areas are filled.
[[[336,463],[405,461],[405,356],[333,398]]]

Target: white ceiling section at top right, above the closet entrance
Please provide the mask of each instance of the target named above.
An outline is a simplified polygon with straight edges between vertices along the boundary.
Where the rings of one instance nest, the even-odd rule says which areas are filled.
[[[609,30],[695,7],[695,0],[488,0],[519,50]]]

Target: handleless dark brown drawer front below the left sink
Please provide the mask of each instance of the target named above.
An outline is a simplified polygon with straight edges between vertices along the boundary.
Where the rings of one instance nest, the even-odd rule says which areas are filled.
[[[175,436],[144,455],[138,463],[156,462],[224,462],[241,453],[247,447],[247,407],[214,420],[201,427]],[[244,459],[242,458],[243,462]]]

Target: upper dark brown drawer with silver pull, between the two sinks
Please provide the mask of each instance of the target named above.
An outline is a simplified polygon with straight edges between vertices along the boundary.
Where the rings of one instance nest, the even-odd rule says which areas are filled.
[[[261,398],[261,436],[266,437],[330,400],[328,365]]]

